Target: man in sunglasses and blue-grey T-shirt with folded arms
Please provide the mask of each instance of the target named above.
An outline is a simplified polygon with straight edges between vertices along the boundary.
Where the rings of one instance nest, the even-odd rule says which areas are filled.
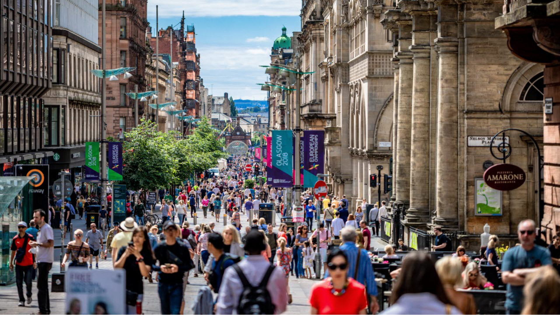
[[[517,237],[521,245],[512,247],[503,255],[502,281],[507,284],[507,314],[520,314],[523,308],[525,277],[538,272],[545,265],[552,265],[550,252],[535,245],[535,221],[523,220],[517,225]]]

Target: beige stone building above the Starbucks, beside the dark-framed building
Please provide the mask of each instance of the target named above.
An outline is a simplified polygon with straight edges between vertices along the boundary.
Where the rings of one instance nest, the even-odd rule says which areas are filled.
[[[55,153],[49,159],[50,181],[70,169],[74,182],[85,161],[85,142],[100,138],[100,79],[90,72],[100,67],[97,2],[78,6],[62,0],[54,5],[53,85],[43,96],[44,145]]]

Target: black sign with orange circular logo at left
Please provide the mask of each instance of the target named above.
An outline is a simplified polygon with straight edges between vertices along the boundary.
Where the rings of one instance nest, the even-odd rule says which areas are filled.
[[[29,222],[35,209],[49,209],[49,165],[17,164],[15,169],[16,176],[32,177],[21,196],[21,219]]]

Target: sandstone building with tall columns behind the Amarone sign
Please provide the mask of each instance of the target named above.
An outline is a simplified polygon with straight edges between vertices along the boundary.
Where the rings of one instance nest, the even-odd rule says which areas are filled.
[[[507,128],[542,139],[543,66],[508,52],[506,36],[494,30],[502,5],[401,0],[384,13],[381,24],[393,38],[393,240],[410,243],[411,228],[437,225],[477,249],[485,223],[492,234],[514,238],[517,223],[538,214],[539,156],[517,132],[506,132],[507,163],[528,180],[502,192],[498,215],[479,215],[475,202],[483,164],[502,163],[477,139]]]

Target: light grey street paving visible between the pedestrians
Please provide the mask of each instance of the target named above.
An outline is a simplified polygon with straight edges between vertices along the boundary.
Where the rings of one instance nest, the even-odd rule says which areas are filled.
[[[198,212],[198,211],[197,211]],[[156,214],[160,214],[155,212]],[[200,211],[202,214],[202,211]],[[244,216],[241,216],[244,217]],[[187,218],[190,224],[193,224],[193,219],[190,215]],[[178,219],[175,218],[175,221],[178,222]],[[200,223],[211,223],[212,219],[198,219],[198,224]],[[278,223],[280,222],[279,216],[277,217],[277,227]],[[76,226],[83,229],[85,226],[85,220],[74,220],[74,229]],[[243,223],[244,225],[246,224]],[[191,226],[193,227],[193,226]],[[222,231],[223,223],[217,223],[214,230],[217,232]],[[277,230],[277,228],[275,229]],[[56,233],[57,230],[55,230]],[[68,238],[67,233],[67,238]],[[58,238],[60,237],[60,230],[58,230]],[[57,234],[55,234],[55,239],[57,238]],[[68,239],[67,239],[68,240]],[[55,240],[55,244],[56,240]],[[60,241],[58,241],[60,244]],[[382,243],[379,238],[374,237],[372,239],[372,247],[376,249],[383,248],[385,243]],[[58,262],[57,253],[55,251],[55,262],[53,263],[52,272],[59,272],[60,270],[60,263]],[[108,257],[107,260],[100,260],[99,263],[100,269],[111,270],[113,266],[111,266],[111,258]],[[206,281],[202,275],[199,277],[193,277],[192,273],[189,277],[190,285],[186,286],[185,292],[185,299],[186,299],[186,307],[185,307],[185,314],[193,314],[192,305],[194,303],[194,299],[197,297],[198,290],[206,285]],[[310,307],[309,307],[309,293],[311,290],[311,286],[314,285],[318,280],[309,280],[309,279],[296,279],[295,276],[290,276],[289,285],[290,290],[292,293],[293,303],[289,304],[286,309],[286,314],[309,314]],[[50,282],[50,280],[49,280]],[[15,284],[8,285],[8,286],[0,286],[0,298],[2,302],[0,304],[0,314],[30,314],[38,311],[38,304],[36,302],[37,297],[37,290],[36,290],[36,281],[33,281],[33,302],[31,303],[30,307],[18,307],[18,297],[17,297],[17,289]],[[51,288],[51,284],[49,283],[49,289]],[[65,304],[66,294],[65,293],[50,293],[50,307],[51,312],[53,314],[64,314],[64,304]],[[144,303],[143,303],[143,313],[144,314],[161,314],[160,311],[160,300],[157,294],[157,282],[149,283],[147,280],[144,280]]]

